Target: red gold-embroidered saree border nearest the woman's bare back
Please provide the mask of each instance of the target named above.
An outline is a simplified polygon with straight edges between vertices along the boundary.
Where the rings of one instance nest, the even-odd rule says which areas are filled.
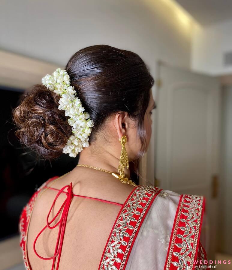
[[[132,190],[114,222],[98,270],[125,269],[140,226],[161,190],[146,185]]]

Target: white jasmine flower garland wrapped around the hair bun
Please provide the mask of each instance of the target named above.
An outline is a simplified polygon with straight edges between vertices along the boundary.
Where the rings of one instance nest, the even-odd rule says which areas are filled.
[[[42,84],[51,91],[61,96],[59,110],[65,110],[65,116],[69,116],[68,124],[72,127],[73,135],[68,138],[63,153],[75,158],[83,147],[89,146],[89,135],[92,131],[93,121],[88,113],[84,113],[84,107],[74,87],[70,85],[70,78],[66,70],[57,68],[53,75],[47,74],[42,79]]]

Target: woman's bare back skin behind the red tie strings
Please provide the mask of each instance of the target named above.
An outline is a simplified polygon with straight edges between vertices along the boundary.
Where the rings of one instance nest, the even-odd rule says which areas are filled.
[[[121,183],[110,174],[81,167],[75,168],[58,180],[53,180],[50,186],[61,189],[71,182],[74,194],[120,204],[125,202],[134,189],[133,186]],[[51,189],[42,192],[33,208],[27,233],[27,250],[31,267],[35,270],[50,269],[52,266],[52,260],[42,260],[36,256],[33,242],[38,232],[46,225],[47,214],[57,192]],[[66,198],[65,193],[60,194],[51,212],[51,218],[55,216]],[[119,205],[74,196],[68,211],[59,268],[98,269],[105,244],[120,208]],[[58,221],[58,218],[54,222]],[[54,255],[57,234],[58,227],[47,228],[40,235],[36,242],[36,251],[41,256]]]

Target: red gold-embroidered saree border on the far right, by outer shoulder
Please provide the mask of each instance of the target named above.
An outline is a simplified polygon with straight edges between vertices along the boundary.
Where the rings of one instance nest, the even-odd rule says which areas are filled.
[[[181,195],[164,270],[192,270],[197,258],[205,198]]]

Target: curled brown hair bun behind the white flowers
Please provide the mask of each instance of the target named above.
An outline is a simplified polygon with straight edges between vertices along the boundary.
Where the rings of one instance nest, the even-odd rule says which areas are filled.
[[[72,134],[65,112],[58,109],[60,96],[36,84],[13,111],[17,137],[45,159],[58,158]]]

